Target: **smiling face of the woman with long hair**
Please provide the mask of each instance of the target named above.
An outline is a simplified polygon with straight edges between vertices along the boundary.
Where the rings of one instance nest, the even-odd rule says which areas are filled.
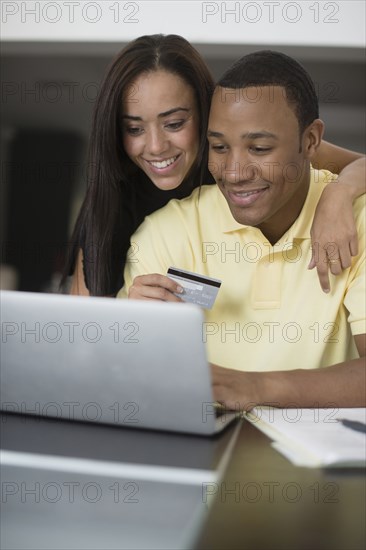
[[[199,148],[194,90],[164,70],[143,73],[123,99],[123,146],[162,190],[179,187]]]

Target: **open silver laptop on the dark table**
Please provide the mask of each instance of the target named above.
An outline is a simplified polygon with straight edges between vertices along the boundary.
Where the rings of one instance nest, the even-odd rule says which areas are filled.
[[[1,409],[214,434],[235,418],[211,390],[191,304],[2,291]]]

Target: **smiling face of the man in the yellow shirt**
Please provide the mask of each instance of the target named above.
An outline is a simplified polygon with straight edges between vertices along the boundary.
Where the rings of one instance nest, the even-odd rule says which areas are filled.
[[[217,87],[209,126],[209,169],[238,223],[276,242],[306,199],[306,129],[280,86]]]

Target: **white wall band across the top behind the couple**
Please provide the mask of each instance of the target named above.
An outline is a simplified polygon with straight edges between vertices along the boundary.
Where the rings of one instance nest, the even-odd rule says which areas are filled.
[[[363,47],[365,1],[2,0],[1,24],[3,41],[126,42],[162,32],[196,43]]]

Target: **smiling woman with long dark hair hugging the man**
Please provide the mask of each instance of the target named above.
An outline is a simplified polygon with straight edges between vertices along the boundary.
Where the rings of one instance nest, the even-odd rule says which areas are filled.
[[[63,278],[74,273],[72,294],[115,296],[123,286],[130,237],[144,217],[201,183],[214,183],[206,148],[213,86],[201,56],[176,35],[140,37],[116,57],[95,107],[92,168]],[[166,108],[161,109],[163,104]],[[332,163],[334,172],[336,165],[342,170],[359,157],[324,142],[316,165],[326,168]],[[329,184],[331,197],[320,201],[312,231],[320,251],[323,244],[339,243],[343,268],[357,251],[351,205],[363,192],[359,176],[356,162],[342,172],[338,184]],[[345,177],[347,185],[340,185]],[[133,253],[132,245],[130,261]],[[317,265],[326,288],[323,259],[320,253],[311,267]]]

